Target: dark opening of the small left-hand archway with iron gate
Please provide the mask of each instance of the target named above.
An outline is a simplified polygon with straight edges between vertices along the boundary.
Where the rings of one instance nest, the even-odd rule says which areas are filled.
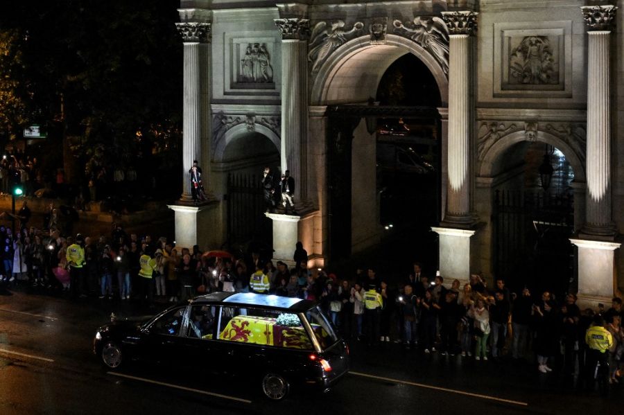
[[[271,221],[264,212],[263,170],[272,170],[279,178],[279,151],[267,136],[259,132],[241,132],[232,137],[223,150],[215,170],[226,182],[227,243],[252,251],[272,247]],[[269,256],[270,257],[270,256]]]

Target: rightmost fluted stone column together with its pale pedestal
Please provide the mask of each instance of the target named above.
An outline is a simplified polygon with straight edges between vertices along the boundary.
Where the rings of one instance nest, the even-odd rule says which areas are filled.
[[[614,242],[616,228],[611,206],[611,116],[609,35],[615,6],[584,6],[589,33],[587,57],[587,192],[585,224],[578,239],[578,304],[596,309],[609,303],[616,288]]]

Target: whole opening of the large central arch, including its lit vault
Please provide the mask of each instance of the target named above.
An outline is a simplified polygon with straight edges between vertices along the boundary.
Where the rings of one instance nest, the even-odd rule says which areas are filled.
[[[405,270],[406,259],[437,257],[429,229],[440,219],[444,98],[440,80],[416,53],[404,44],[365,46],[327,77],[324,99],[334,104],[328,128],[333,264],[358,256],[370,261],[374,252],[376,266],[394,272]],[[435,272],[437,261],[428,265]]]

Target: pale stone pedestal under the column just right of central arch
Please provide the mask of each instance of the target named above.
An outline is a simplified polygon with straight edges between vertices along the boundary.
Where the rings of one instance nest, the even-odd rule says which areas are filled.
[[[432,227],[440,236],[440,275],[444,283],[458,279],[463,286],[470,277],[470,237],[475,231]]]

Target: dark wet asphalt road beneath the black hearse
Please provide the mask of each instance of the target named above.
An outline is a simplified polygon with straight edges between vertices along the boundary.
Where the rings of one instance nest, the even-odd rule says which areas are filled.
[[[92,341],[111,312],[145,314],[133,303],[70,303],[24,290],[0,295],[0,414],[613,414],[624,408],[619,386],[603,398],[528,364],[359,342],[351,343],[352,372],[329,393],[295,391],[270,403],[244,378],[145,365],[103,369]]]

